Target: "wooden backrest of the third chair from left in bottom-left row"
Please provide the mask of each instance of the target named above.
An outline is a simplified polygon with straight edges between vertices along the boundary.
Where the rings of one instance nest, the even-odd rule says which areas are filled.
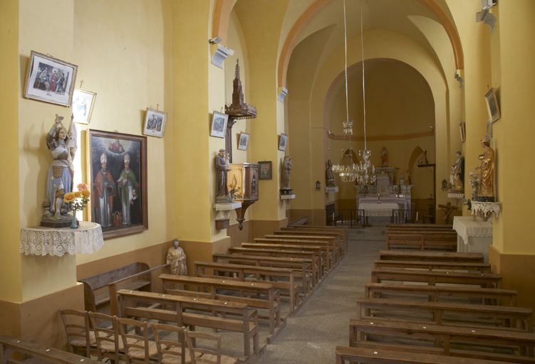
[[[117,322],[127,364],[149,364],[150,357],[156,358],[156,346],[154,341],[149,341],[149,324],[146,321],[117,319]]]

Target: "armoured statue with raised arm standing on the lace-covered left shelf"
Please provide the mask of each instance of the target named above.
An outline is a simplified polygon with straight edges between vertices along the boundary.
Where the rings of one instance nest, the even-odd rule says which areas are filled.
[[[71,215],[67,215],[71,208],[63,204],[63,196],[73,191],[74,168],[72,162],[77,149],[76,125],[71,118],[71,126],[67,131],[61,124],[61,120],[63,117],[56,114],[56,120],[50,132],[45,136],[46,146],[52,154],[53,162],[48,170],[47,198],[43,202],[45,213],[41,225],[52,228],[69,226],[68,222],[73,219]]]

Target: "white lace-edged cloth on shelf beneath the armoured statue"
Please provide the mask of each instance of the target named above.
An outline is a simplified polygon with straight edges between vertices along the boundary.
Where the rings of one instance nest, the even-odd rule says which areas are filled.
[[[70,255],[92,253],[104,245],[102,228],[95,223],[80,221],[78,229],[23,228],[19,252],[26,255]]]

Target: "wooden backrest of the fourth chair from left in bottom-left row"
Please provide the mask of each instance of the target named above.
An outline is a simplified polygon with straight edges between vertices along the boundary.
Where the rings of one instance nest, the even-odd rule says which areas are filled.
[[[161,364],[176,363],[173,358],[177,357],[176,359],[180,358],[180,363],[185,364],[186,356],[189,358],[189,353],[186,353],[185,346],[185,329],[175,325],[168,325],[167,323],[151,323],[150,326],[156,341],[158,361]],[[170,334],[162,338],[161,332]],[[176,340],[173,338],[176,338]]]

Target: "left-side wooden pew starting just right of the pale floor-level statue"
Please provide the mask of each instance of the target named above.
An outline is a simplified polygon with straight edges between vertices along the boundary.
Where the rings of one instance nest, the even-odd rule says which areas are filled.
[[[208,277],[208,278],[221,278],[218,276],[218,273],[224,274],[236,274],[237,277],[228,277],[229,279],[235,278],[243,282],[251,283],[269,283],[272,284],[274,288],[281,289],[289,292],[290,296],[290,314],[294,314],[294,311],[301,306],[301,303],[304,301],[305,296],[303,294],[303,300],[299,299],[299,290],[302,287],[299,284],[296,284],[294,281],[294,269],[289,268],[270,268],[270,267],[256,267],[252,265],[242,265],[242,264],[226,264],[226,263],[216,263],[216,262],[200,262],[195,261],[195,275],[197,277]],[[214,274],[207,274],[206,269],[213,269]],[[256,279],[246,278],[247,274],[254,274]],[[262,280],[261,277],[264,277]],[[276,277],[276,279],[288,279],[287,281],[273,281],[270,280],[270,277]],[[224,277],[227,278],[227,277]]]

